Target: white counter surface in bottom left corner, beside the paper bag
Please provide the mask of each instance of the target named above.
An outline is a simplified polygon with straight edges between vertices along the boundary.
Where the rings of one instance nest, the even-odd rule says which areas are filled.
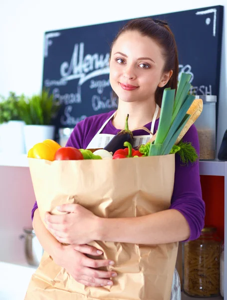
[[[0,300],[24,300],[36,267],[0,261]]]

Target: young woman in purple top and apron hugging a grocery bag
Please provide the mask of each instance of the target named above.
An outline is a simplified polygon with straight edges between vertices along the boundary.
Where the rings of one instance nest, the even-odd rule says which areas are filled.
[[[163,90],[177,88],[178,54],[169,26],[151,18],[129,21],[114,39],[110,50],[110,84],[118,96],[116,111],[87,117],[79,122],[67,146],[104,147],[122,128],[129,113],[129,128],[134,130],[135,145],[146,143],[158,128]],[[199,153],[196,127],[184,136]],[[204,226],[199,163],[181,165],[176,155],[175,184],[168,210],[133,218],[102,219],[78,204],[62,205],[64,215],[46,213],[49,231],[37,208],[32,210],[33,227],[43,248],[75,280],[88,286],[112,285],[111,272],[97,270],[111,263],[91,259],[97,249],[86,245],[92,240],[159,244],[196,239]],[[62,245],[69,243],[70,245]],[[171,299],[180,299],[180,280],[175,270]]]

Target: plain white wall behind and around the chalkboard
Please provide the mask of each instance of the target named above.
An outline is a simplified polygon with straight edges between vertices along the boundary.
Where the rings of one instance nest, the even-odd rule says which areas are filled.
[[[108,3],[108,5],[107,5]],[[42,80],[47,30],[83,26],[186,9],[224,5],[227,0],[7,0],[0,1],[0,94],[30,95]],[[224,15],[225,16],[225,15]],[[224,18],[218,148],[227,128],[227,21]]]

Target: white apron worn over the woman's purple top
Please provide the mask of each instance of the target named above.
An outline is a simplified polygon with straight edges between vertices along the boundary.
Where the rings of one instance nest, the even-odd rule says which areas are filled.
[[[137,129],[143,129],[150,133],[149,135],[135,135],[134,136],[134,143],[133,147],[136,147],[140,144],[146,144],[151,137],[154,135],[154,127],[155,127],[155,121],[157,118],[159,112],[159,105],[156,104],[155,113],[152,119],[151,123],[151,131],[148,130],[146,127],[136,128]],[[114,137],[114,134],[108,134],[108,133],[100,133],[103,128],[106,126],[106,124],[113,118],[116,112],[114,112],[101,126],[101,128],[98,130],[98,132],[95,134],[95,136],[92,138],[90,143],[87,146],[87,149],[96,149],[96,148],[104,148],[109,141]],[[134,131],[133,130],[133,131]],[[171,298],[170,300],[181,300],[181,283],[180,283],[180,277],[177,272],[177,269],[175,269],[174,277],[173,277],[173,283],[172,283],[172,292],[171,292]]]

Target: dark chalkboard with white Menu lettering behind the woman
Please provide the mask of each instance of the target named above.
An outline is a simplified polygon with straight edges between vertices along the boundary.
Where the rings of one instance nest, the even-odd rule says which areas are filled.
[[[179,76],[181,72],[191,73],[196,94],[218,97],[223,6],[151,17],[166,20],[175,35]],[[61,102],[54,119],[56,132],[60,127],[74,127],[86,116],[116,109],[109,82],[109,50],[127,21],[45,32],[42,86]]]

